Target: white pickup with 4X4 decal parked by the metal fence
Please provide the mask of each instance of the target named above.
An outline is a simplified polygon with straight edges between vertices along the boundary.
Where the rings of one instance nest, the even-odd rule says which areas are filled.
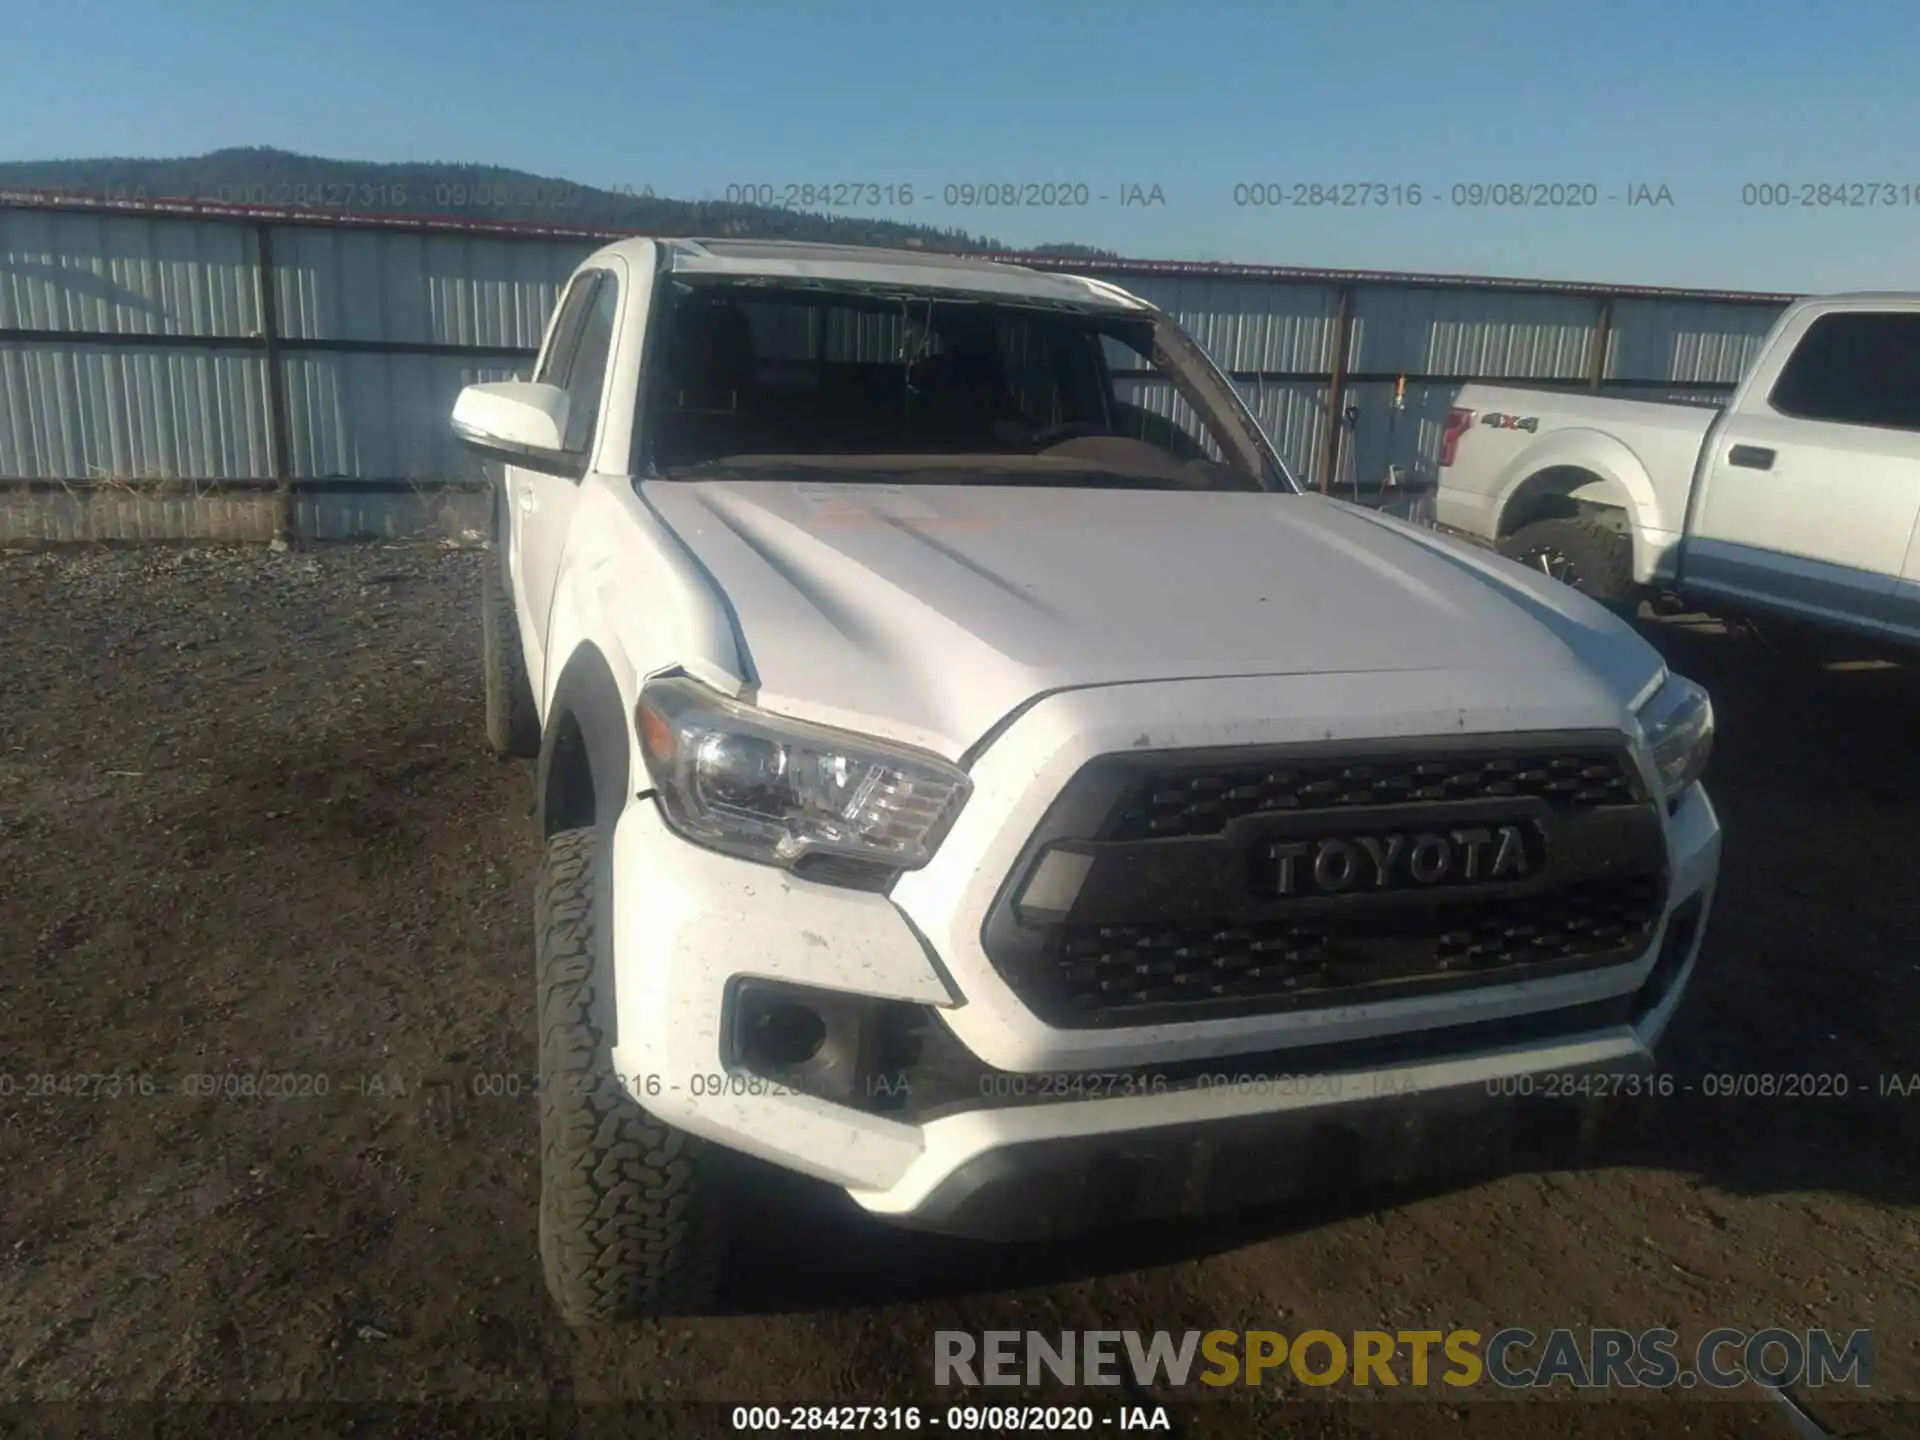
[[[1788,307],[1726,409],[1465,386],[1434,518],[1596,599],[1920,643],[1920,296]]]

